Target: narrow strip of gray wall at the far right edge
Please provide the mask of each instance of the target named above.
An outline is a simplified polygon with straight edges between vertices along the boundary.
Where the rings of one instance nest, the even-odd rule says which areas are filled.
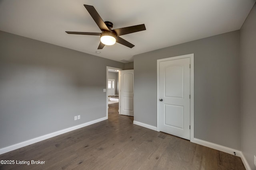
[[[256,155],[256,4],[241,30],[242,152],[252,170]]]

